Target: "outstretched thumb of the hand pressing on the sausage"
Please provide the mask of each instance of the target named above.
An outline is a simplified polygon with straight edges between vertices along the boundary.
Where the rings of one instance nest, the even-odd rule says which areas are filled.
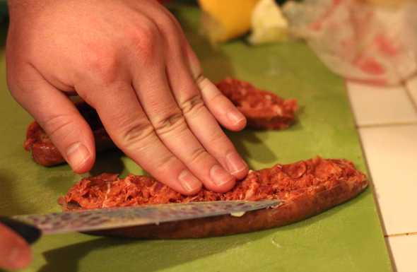
[[[93,132],[74,104],[33,68],[20,69],[24,82],[9,81],[11,92],[69,162],[74,172],[90,170],[95,160]]]

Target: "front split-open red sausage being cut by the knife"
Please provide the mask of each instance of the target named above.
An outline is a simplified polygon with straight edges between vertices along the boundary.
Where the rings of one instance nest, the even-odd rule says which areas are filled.
[[[138,238],[187,238],[231,235],[264,230],[303,220],[348,201],[368,186],[363,173],[348,160],[314,158],[289,165],[251,171],[227,193],[203,189],[183,196],[152,177],[113,174],[82,179],[59,199],[64,211],[160,203],[279,199],[283,205],[248,212],[241,217],[222,215],[160,225],[123,227],[93,232]]]

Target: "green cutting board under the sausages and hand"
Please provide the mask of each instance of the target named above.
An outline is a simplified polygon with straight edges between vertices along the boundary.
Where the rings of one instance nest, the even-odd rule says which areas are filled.
[[[237,40],[211,48],[197,34],[199,11],[176,6],[206,76],[234,76],[298,99],[298,123],[286,131],[230,133],[255,169],[322,155],[352,160],[366,172],[343,80],[302,42],[251,47]],[[6,90],[1,54],[0,214],[59,211],[57,199],[81,177],[67,165],[36,165],[22,148],[31,118]],[[92,171],[134,172],[118,152],[99,156]],[[78,233],[42,237],[26,271],[392,271],[372,190],[314,218],[273,230],[197,240],[124,240]]]

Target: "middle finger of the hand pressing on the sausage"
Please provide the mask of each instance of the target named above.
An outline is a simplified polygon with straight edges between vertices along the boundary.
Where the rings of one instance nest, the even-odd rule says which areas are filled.
[[[158,31],[158,30],[156,30]],[[177,156],[204,185],[213,191],[228,191],[235,184],[235,177],[201,146],[198,139],[189,130],[183,112],[172,96],[170,85],[165,76],[165,62],[162,47],[155,41],[153,62],[143,66],[138,60],[132,67],[134,88],[148,119],[155,128],[161,141]],[[196,108],[204,107],[202,101],[196,101]],[[194,107],[194,105],[193,105]]]

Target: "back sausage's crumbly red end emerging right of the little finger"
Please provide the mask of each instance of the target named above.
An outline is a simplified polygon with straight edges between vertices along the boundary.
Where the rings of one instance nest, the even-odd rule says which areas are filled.
[[[235,78],[225,78],[216,85],[245,115],[250,129],[286,129],[295,122],[298,105],[294,99],[284,100]]]

